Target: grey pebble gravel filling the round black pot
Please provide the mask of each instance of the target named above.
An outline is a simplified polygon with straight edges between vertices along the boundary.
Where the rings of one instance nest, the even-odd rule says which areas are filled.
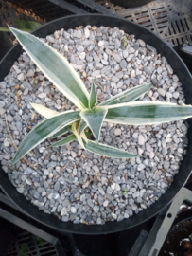
[[[89,91],[94,78],[98,101],[152,82],[153,87],[139,101],[184,103],[182,84],[171,63],[153,46],[116,27],[61,29],[42,40],[68,59]],[[11,166],[15,148],[5,114],[19,146],[43,119],[30,102],[60,112],[76,108],[23,53],[0,82],[0,161],[18,192],[61,221],[104,224],[129,218],[158,200],[179,172],[188,143],[183,121],[151,126],[103,123],[101,143],[146,158],[105,158],[84,151],[77,141],[50,149],[47,146],[56,139],[47,139],[26,155],[36,170],[24,161]]]

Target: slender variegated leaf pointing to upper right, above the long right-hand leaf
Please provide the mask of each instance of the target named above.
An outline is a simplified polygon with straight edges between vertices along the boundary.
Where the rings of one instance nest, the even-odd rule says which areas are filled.
[[[131,102],[135,101],[139,97],[141,97],[143,94],[148,92],[148,90],[152,87],[152,83],[139,85],[136,87],[133,87],[131,89],[128,89],[122,93],[119,93],[112,98],[108,99],[107,101],[103,101],[99,104],[99,106],[106,106],[106,105],[114,105],[114,104],[120,104],[124,102]]]

